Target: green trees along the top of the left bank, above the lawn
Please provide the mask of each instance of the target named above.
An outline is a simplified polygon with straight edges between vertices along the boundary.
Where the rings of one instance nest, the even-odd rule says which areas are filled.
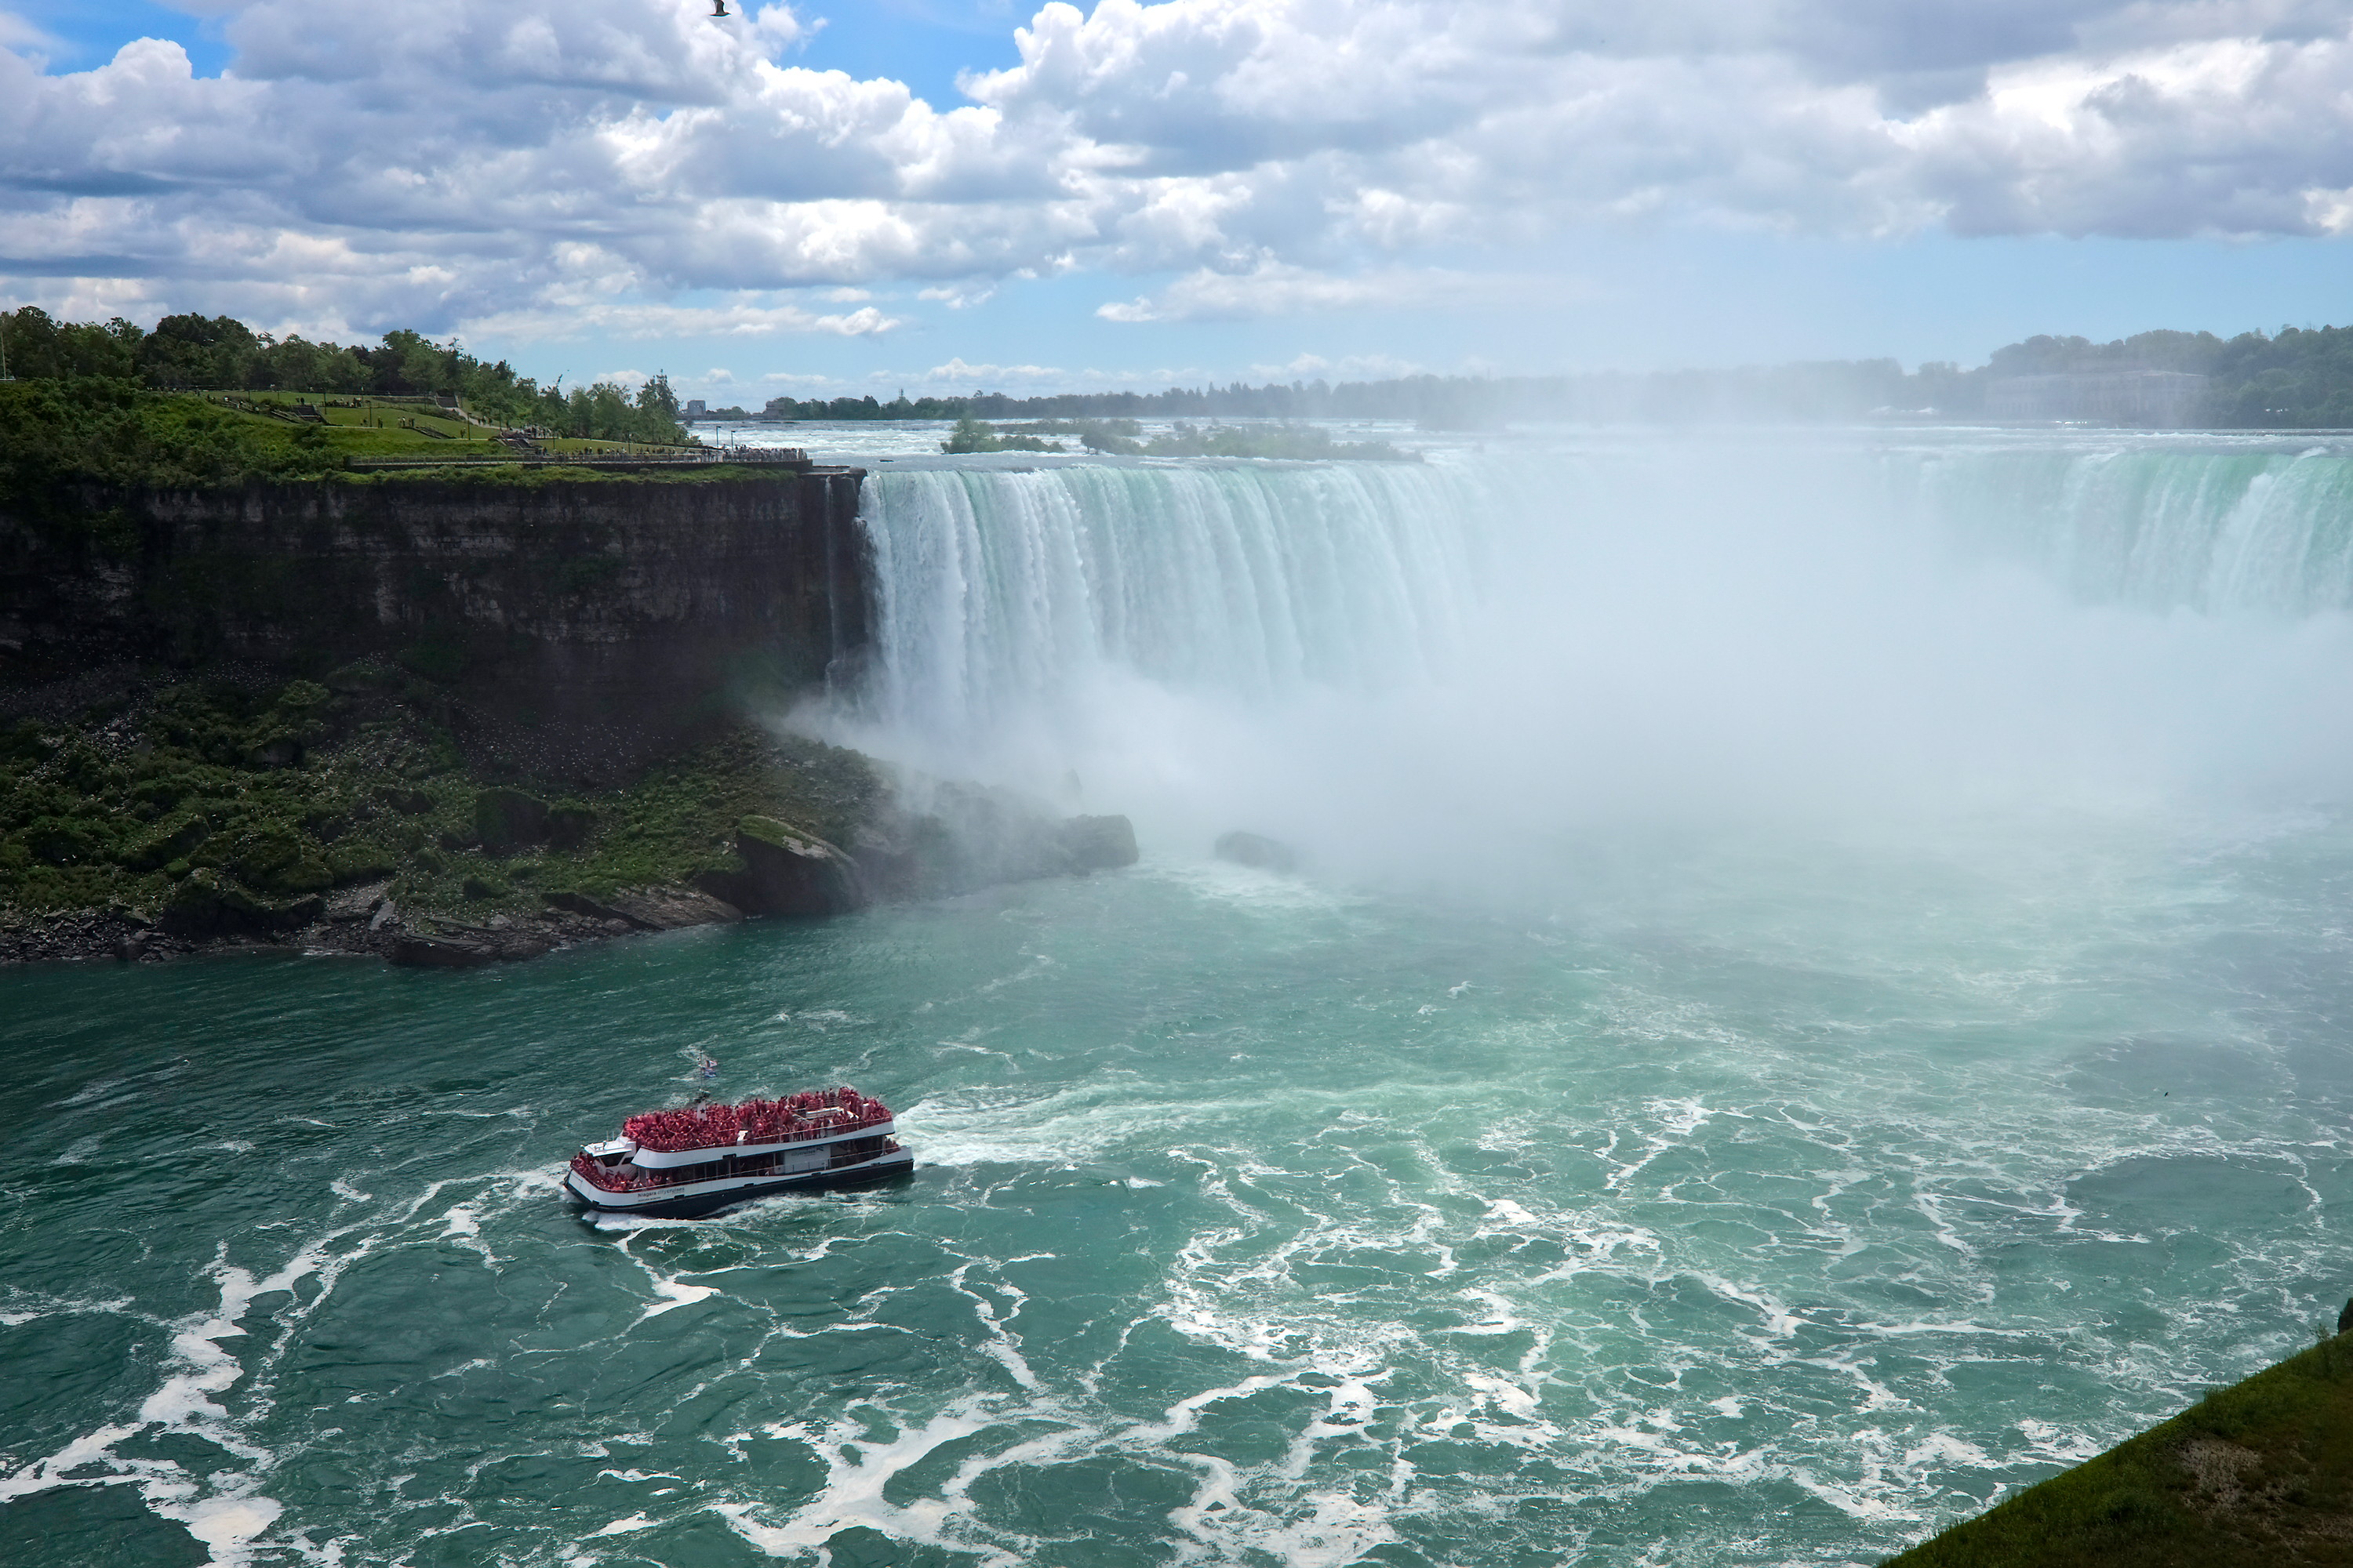
[[[456,339],[386,331],[362,348],[273,339],[228,315],[167,315],[155,329],[59,322],[38,306],[0,310],[0,364],[19,381],[127,381],[153,393],[336,393],[421,397],[449,393],[501,425],[539,425],[600,442],[682,442],[668,376],[638,393],[595,381],[569,393],[518,376],[506,360],[485,364]]]

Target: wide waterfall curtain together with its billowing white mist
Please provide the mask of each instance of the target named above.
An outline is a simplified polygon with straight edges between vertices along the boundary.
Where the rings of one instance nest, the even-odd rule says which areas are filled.
[[[2059,435],[885,473],[842,729],[1148,839],[1341,860],[1400,823],[1461,863],[1626,820],[2311,795],[2348,762],[2315,741],[2348,501],[2337,451]]]

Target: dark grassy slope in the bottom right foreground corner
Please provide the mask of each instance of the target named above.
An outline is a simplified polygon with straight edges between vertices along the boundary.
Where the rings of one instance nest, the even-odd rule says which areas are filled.
[[[2353,1338],[2214,1389],[1887,1568],[2353,1563]]]

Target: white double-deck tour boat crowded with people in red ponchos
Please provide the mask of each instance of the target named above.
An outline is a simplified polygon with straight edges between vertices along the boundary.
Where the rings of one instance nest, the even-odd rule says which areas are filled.
[[[849,1187],[915,1166],[889,1105],[856,1088],[649,1110],[572,1157],[565,1192],[600,1213],[696,1215],[772,1192]]]

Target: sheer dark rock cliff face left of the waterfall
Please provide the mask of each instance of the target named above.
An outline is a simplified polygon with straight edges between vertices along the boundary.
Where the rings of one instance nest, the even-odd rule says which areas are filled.
[[[861,473],[400,477],[0,515],[0,661],[376,656],[525,722],[675,726],[868,639]]]

